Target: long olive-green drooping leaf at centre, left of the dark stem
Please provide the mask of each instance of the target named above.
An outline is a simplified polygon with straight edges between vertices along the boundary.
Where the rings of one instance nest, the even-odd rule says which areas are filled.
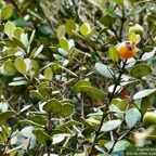
[[[104,100],[105,93],[101,90],[98,90],[91,86],[81,86],[82,92],[87,92],[87,94],[94,100]]]

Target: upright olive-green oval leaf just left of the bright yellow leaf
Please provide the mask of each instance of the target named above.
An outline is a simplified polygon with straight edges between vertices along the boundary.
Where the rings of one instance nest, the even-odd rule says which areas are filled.
[[[66,23],[65,23],[65,29],[67,31],[67,34],[69,36],[73,35],[73,30],[75,31],[76,30],[76,24],[73,20],[68,20]]]

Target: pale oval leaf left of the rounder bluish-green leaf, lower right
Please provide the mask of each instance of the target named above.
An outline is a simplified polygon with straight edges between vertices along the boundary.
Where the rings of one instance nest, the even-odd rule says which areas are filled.
[[[116,120],[109,120],[109,121],[106,121],[105,123],[103,123],[102,128],[101,128],[101,131],[112,131],[116,128],[118,128],[121,123],[121,120],[119,119],[116,119]]]

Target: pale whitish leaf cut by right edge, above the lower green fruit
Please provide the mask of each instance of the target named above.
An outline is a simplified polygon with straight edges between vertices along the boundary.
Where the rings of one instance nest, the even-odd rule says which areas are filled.
[[[139,100],[139,99],[148,96],[150,94],[155,93],[155,92],[156,92],[156,89],[142,90],[133,95],[133,100]]]

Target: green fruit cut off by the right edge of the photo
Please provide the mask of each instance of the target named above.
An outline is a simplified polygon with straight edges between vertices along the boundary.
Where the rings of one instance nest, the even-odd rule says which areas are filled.
[[[145,127],[156,126],[156,112],[146,112],[143,117],[143,125]]]

